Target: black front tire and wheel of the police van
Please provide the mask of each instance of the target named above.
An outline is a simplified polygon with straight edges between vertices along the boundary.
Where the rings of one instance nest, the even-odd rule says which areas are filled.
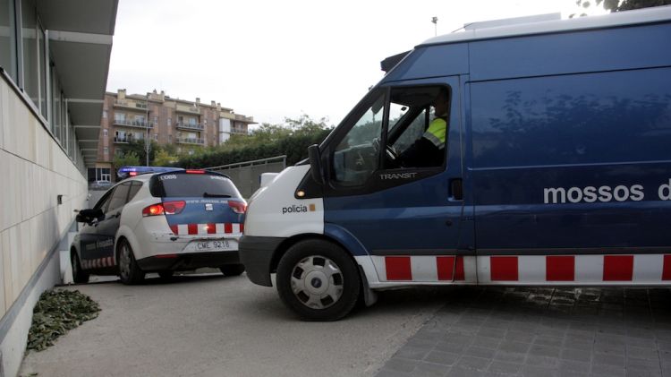
[[[276,286],[282,302],[302,320],[337,321],[357,303],[361,277],[342,247],[313,239],[287,250],[277,265]]]

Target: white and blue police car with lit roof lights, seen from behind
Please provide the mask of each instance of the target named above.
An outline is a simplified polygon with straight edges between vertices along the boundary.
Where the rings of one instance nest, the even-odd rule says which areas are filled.
[[[147,272],[218,268],[240,275],[238,239],[247,202],[231,180],[205,170],[134,176],[116,184],[93,209],[71,246],[72,277],[119,275],[124,284]]]

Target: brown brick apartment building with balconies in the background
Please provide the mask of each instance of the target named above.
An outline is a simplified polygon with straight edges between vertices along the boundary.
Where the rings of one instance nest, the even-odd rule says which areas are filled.
[[[235,114],[232,108],[171,99],[164,91],[146,95],[126,90],[107,92],[100,122],[98,160],[89,171],[89,181],[115,180],[113,160],[123,146],[147,138],[158,145],[174,144],[178,152],[219,145],[232,134],[247,134],[251,116]],[[144,161],[140,161],[144,163]],[[118,168],[118,167],[116,167]]]

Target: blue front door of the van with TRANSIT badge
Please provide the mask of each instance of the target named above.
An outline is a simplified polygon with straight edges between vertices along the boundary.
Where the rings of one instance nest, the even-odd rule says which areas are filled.
[[[438,90],[449,91],[442,164],[396,166],[386,145],[403,156],[421,138]],[[458,77],[378,88],[329,141],[325,232],[338,227],[355,236],[381,282],[476,281],[472,222],[463,221],[459,93]]]

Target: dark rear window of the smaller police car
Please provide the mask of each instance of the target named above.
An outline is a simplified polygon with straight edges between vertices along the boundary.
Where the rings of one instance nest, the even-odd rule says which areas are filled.
[[[152,176],[149,191],[153,196],[199,197],[199,198],[240,198],[233,182],[218,174],[161,174]]]

